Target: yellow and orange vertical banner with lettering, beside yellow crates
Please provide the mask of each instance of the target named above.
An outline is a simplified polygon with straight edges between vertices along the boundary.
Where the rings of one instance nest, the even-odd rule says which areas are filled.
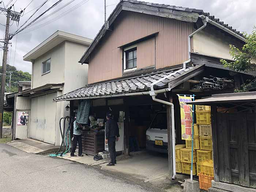
[[[181,139],[192,140],[192,105],[186,102],[192,101],[192,95],[178,95],[180,101]]]

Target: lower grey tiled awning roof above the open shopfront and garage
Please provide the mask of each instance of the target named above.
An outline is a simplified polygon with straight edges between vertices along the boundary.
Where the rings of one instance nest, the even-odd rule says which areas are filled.
[[[163,80],[156,84],[156,89],[161,89],[167,87],[167,84],[172,81],[177,76],[181,76],[187,72],[193,71],[198,68],[191,66],[184,69],[181,72]],[[72,99],[81,99],[81,98],[94,98],[100,96],[110,96],[110,95],[120,95],[125,93],[136,93],[150,90],[150,84],[169,75],[173,72],[177,71],[180,68],[169,69],[156,71],[149,74],[144,74],[140,76],[135,76],[132,78],[120,79],[120,80],[112,80],[109,82],[99,83],[95,85],[89,85],[70,93],[61,95],[60,97],[54,98],[53,101],[62,101],[62,100],[72,100]]]

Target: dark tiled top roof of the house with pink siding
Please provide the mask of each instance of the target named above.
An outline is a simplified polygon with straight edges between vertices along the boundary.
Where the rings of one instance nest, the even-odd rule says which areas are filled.
[[[158,4],[158,3],[148,3],[144,1],[136,1],[136,0],[122,0],[122,1],[128,1],[131,3],[138,3],[138,4],[145,4],[150,5],[154,7],[161,7],[161,8],[168,8],[172,10],[180,10],[180,11],[187,11],[187,12],[196,12],[198,14],[202,14],[204,16],[208,16],[211,20],[214,20],[215,22],[219,23],[220,25],[227,27],[229,30],[233,31],[234,33],[240,35],[241,37],[244,37],[240,31],[237,31],[236,29],[233,29],[232,26],[229,26],[228,24],[225,24],[223,21],[220,21],[219,18],[215,18],[214,15],[210,15],[209,12],[204,12],[203,10],[198,10],[194,8],[188,8],[188,7],[180,7],[180,6],[174,6],[174,5],[166,5],[166,4]]]

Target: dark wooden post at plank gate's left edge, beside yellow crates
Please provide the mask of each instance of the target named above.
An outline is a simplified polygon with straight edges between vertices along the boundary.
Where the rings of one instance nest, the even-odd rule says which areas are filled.
[[[212,132],[212,153],[214,163],[214,181],[219,181],[219,162],[218,162],[218,135],[217,135],[217,106],[211,106],[211,132]]]

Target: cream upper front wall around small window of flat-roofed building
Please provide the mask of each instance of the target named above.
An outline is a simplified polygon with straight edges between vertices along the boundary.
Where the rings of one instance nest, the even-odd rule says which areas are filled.
[[[61,43],[35,59],[32,71],[32,89],[47,83],[63,83],[65,67],[65,43]],[[42,62],[51,59],[50,72],[42,75]]]

